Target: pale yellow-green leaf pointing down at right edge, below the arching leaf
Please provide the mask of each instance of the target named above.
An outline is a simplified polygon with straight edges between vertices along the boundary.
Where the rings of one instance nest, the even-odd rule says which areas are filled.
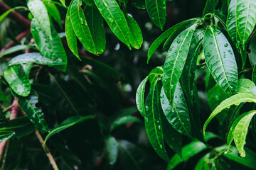
[[[245,139],[247,135],[247,131],[249,128],[250,121],[252,117],[256,114],[256,111],[250,111],[249,114],[244,115],[235,126],[234,130],[234,141],[235,146],[238,148],[238,152],[240,157],[245,157],[245,149],[243,148],[245,145]]]

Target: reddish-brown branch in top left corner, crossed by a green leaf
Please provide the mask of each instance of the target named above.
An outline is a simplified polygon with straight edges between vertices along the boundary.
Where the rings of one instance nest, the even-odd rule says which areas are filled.
[[[9,9],[11,8],[0,0],[0,11],[4,13],[6,11],[9,11]],[[21,16],[21,14],[17,13],[16,11],[12,11],[11,13],[9,13],[9,18],[16,21],[16,23],[19,23],[26,29],[30,28],[31,21],[29,21],[27,18],[24,18],[23,16]]]

